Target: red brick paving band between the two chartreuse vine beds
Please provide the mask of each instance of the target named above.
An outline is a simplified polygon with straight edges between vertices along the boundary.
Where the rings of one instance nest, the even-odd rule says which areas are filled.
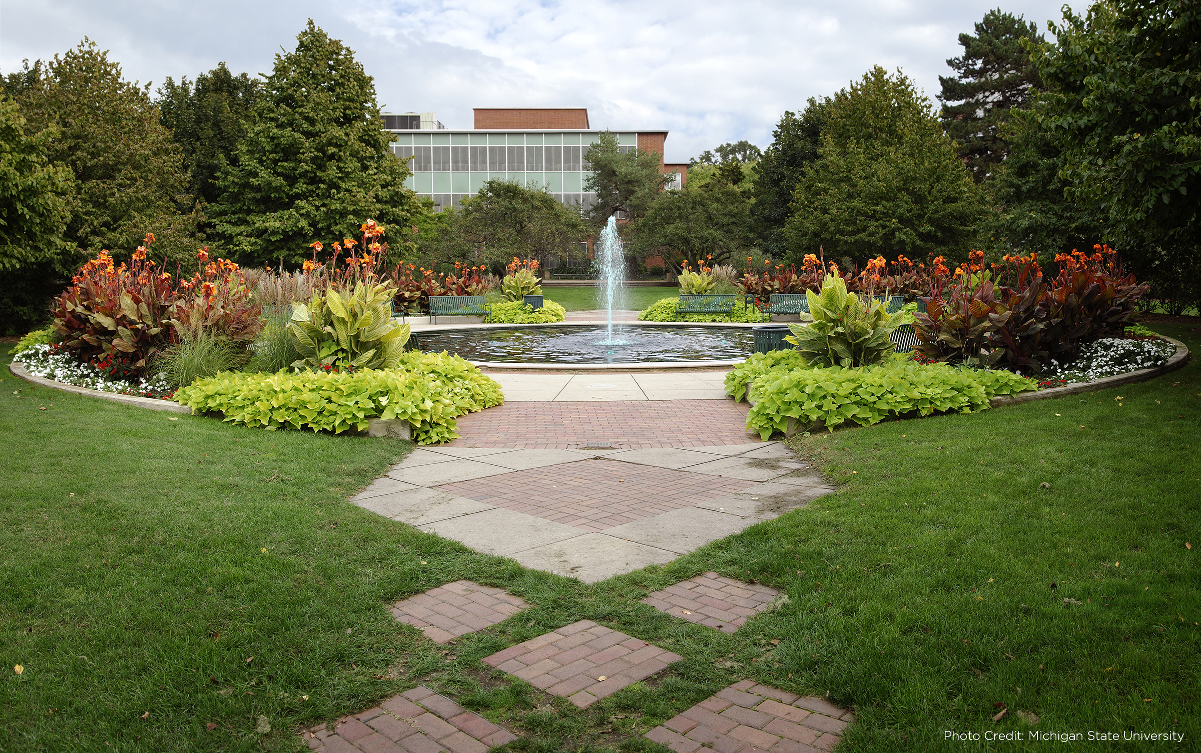
[[[698,407],[703,406],[703,407]],[[748,444],[751,407],[733,400],[508,402],[459,418],[449,447],[575,449],[587,442],[640,447]]]

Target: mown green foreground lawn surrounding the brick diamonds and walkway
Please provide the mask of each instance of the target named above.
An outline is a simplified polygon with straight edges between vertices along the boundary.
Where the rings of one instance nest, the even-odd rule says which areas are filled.
[[[837,492],[596,585],[346,502],[405,442],[252,430],[2,376],[0,749],[300,749],[297,725],[425,683],[524,733],[515,751],[638,751],[655,747],[638,737],[650,727],[743,677],[854,705],[848,751],[988,749],[944,730],[1026,731],[1017,711],[1044,731],[1183,733],[1172,749],[1201,735],[1195,361],[1095,395],[799,438]],[[639,603],[709,569],[789,603],[734,635]],[[387,611],[458,578],[534,606],[446,647]],[[584,711],[479,663],[580,618],[685,659]],[[993,723],[998,701],[1010,715]],[[271,731],[256,731],[261,716]]]

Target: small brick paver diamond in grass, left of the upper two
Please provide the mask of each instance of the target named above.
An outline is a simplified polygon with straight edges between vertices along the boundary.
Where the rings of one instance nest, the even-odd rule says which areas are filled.
[[[456,580],[396,602],[396,620],[420,628],[426,638],[444,644],[465,633],[482,631],[528,606],[503,588]]]

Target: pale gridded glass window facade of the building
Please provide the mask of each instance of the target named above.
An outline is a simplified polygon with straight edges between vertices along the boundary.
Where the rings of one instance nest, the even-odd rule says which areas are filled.
[[[584,187],[590,173],[585,155],[599,141],[598,132],[442,131],[393,137],[393,153],[413,172],[405,185],[432,198],[436,211],[458,205],[489,179],[545,189],[569,207],[587,208],[596,201]],[[638,133],[620,132],[617,143],[631,151]]]

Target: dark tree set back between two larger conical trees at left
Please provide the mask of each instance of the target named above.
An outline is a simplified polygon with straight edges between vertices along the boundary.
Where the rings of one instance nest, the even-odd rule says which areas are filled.
[[[177,84],[168,76],[159,86],[162,125],[183,149],[192,196],[202,202],[217,198],[217,172],[235,157],[258,86],[246,73],[231,73],[225,62],[197,76],[195,84],[187,77]]]

